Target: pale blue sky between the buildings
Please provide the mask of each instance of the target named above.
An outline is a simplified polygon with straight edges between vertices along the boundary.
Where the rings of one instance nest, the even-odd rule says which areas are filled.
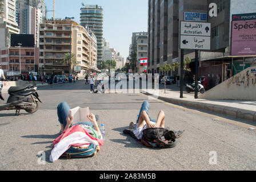
[[[103,8],[103,38],[123,57],[129,56],[133,32],[147,32],[147,0],[55,0],[55,18],[74,17],[80,23],[80,9],[85,5]],[[53,17],[53,0],[45,0],[47,18]]]

